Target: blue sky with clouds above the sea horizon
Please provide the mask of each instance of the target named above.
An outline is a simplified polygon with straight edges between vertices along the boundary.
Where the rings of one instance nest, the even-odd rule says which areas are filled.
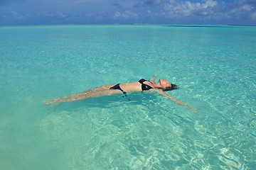
[[[256,0],[0,0],[0,26],[88,23],[256,26]]]

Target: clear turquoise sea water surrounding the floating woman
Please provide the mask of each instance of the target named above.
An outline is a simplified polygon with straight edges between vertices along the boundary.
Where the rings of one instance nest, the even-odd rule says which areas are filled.
[[[256,169],[256,27],[0,28],[0,169]],[[42,101],[149,79],[158,94]]]

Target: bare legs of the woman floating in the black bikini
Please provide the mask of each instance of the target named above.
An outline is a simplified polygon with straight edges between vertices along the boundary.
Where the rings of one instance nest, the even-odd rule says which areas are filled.
[[[80,101],[85,98],[92,98],[92,97],[99,97],[99,96],[110,96],[113,94],[122,94],[122,91],[110,89],[113,85],[105,85],[99,86],[94,89],[89,89],[87,91],[82,91],[79,94],[71,94],[69,96],[64,96],[55,99],[48,99],[44,103],[51,104],[51,103],[63,103],[63,102],[70,102],[70,101]]]

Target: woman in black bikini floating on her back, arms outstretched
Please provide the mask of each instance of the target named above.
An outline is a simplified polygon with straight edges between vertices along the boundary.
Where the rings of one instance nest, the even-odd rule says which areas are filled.
[[[63,103],[70,101],[79,101],[85,98],[99,97],[99,96],[110,96],[114,94],[124,94],[127,96],[127,92],[139,92],[139,91],[156,91],[157,93],[170,98],[175,103],[187,106],[186,103],[182,101],[177,101],[175,98],[169,96],[164,91],[171,91],[177,89],[178,87],[175,84],[170,84],[166,79],[159,79],[159,82],[156,83],[156,75],[151,77],[149,80],[140,79],[137,82],[127,83],[127,84],[115,84],[115,85],[104,85],[99,86],[94,89],[89,89],[87,91],[82,91],[79,94],[71,94],[70,96],[49,99],[45,101],[46,104],[51,103]]]

